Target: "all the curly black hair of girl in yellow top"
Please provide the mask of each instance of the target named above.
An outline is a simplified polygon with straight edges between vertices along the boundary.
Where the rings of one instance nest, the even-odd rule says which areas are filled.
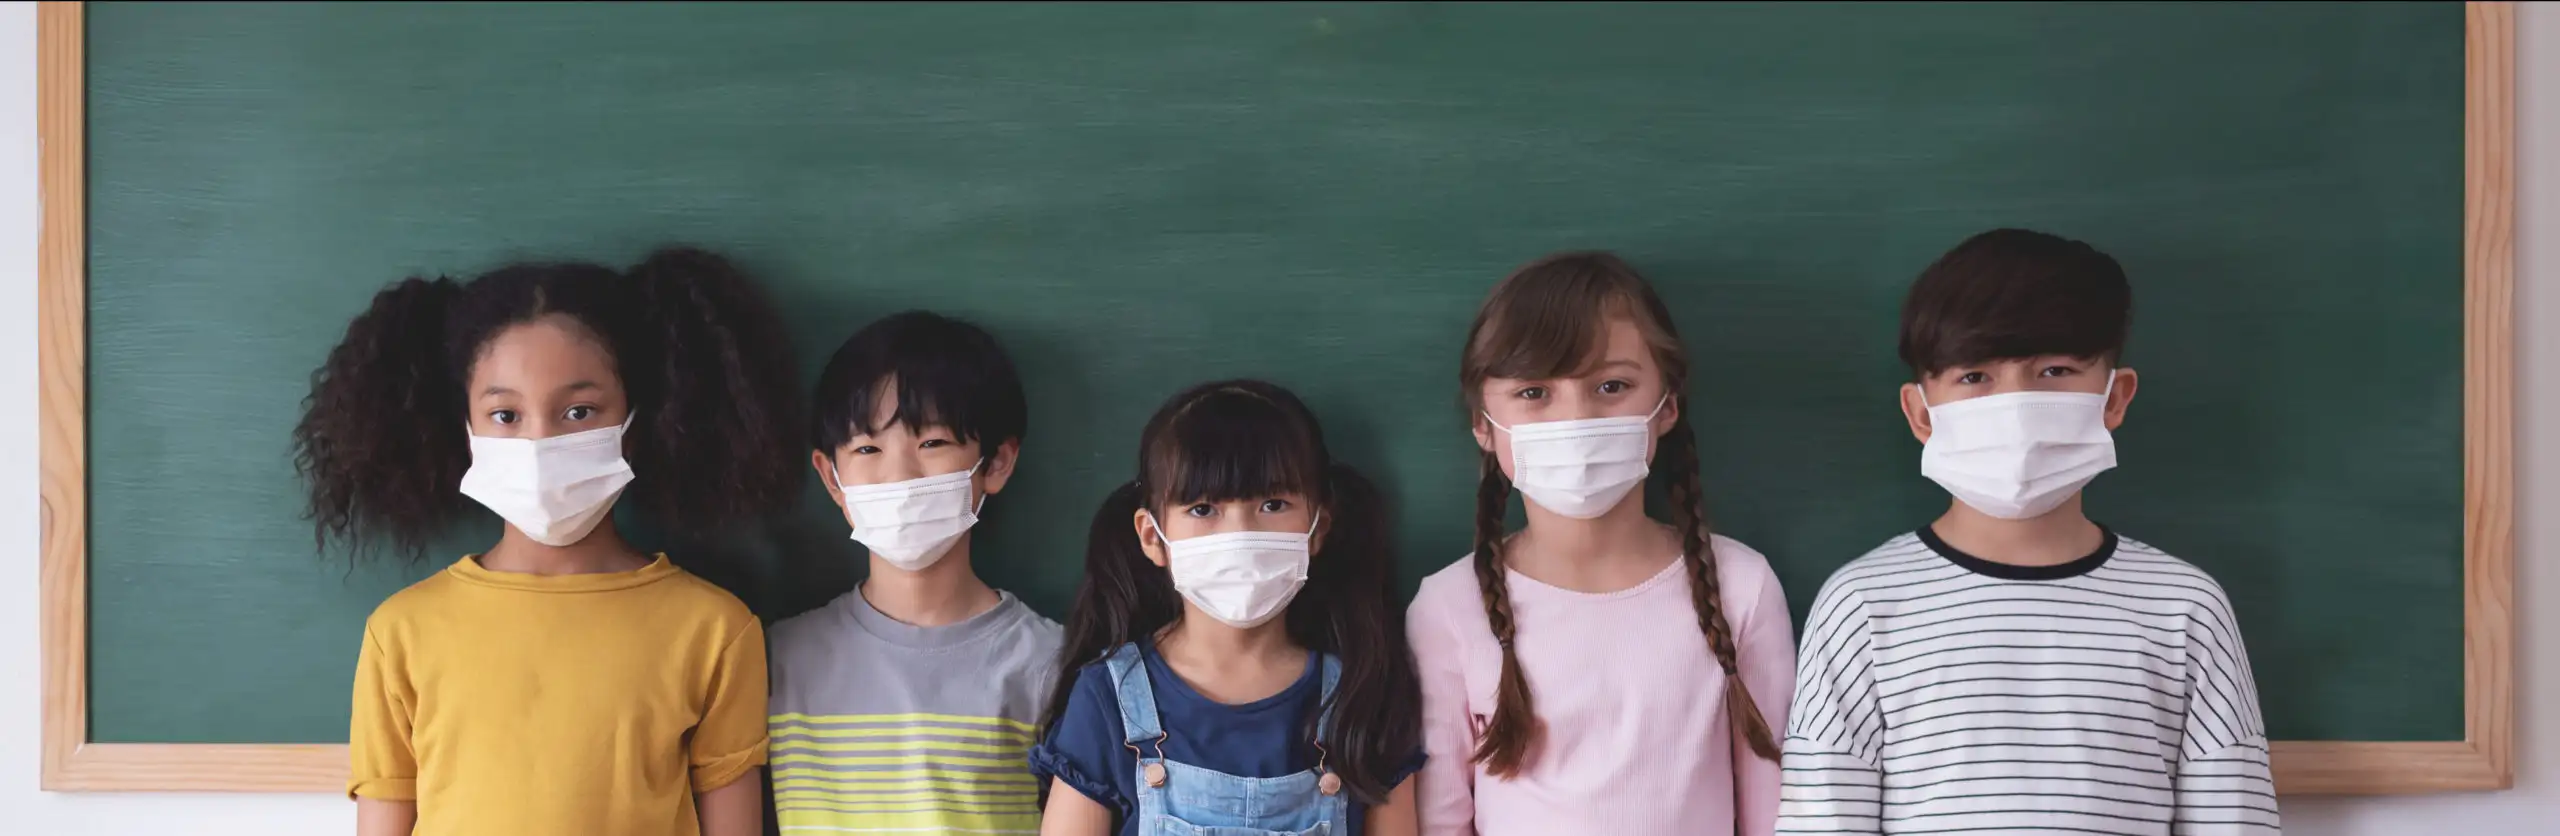
[[[799,373],[773,307],[727,258],[660,248],[630,271],[515,263],[471,281],[404,279],[312,371],[294,424],[312,539],[425,557],[463,511],[463,381],[509,325],[566,314],[594,332],[630,394],[632,499],[668,534],[791,506]]]

